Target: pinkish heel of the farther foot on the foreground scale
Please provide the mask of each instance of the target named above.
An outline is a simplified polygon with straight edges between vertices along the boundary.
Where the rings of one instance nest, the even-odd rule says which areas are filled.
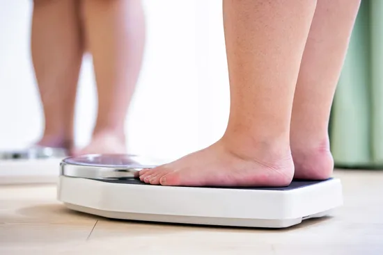
[[[334,158],[329,146],[315,149],[292,149],[295,179],[325,180],[334,170]]]

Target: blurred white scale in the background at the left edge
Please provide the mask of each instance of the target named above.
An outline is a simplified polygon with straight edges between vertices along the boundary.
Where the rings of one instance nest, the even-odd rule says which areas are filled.
[[[56,183],[68,151],[53,147],[0,151],[0,184]]]

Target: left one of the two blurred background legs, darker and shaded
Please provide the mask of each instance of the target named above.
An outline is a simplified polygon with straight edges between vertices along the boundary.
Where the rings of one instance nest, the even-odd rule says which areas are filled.
[[[31,51],[45,130],[38,145],[70,149],[83,55],[77,0],[35,0]]]

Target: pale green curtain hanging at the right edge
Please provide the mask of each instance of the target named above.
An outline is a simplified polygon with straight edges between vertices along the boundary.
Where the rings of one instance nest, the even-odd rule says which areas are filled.
[[[362,1],[331,109],[336,167],[383,168],[383,1]]]

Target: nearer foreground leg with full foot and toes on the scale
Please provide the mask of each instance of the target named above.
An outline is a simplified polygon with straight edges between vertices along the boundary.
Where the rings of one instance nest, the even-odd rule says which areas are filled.
[[[168,186],[286,186],[294,174],[290,117],[315,0],[224,0],[230,118],[224,137],[143,170]]]

